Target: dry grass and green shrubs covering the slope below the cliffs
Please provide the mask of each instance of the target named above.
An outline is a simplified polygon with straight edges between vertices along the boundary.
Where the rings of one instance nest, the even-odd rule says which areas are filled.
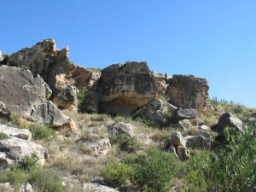
[[[47,125],[12,115],[12,125],[31,130],[32,139],[48,148],[50,155],[44,168],[32,155],[4,172],[0,179],[11,183],[16,191],[24,183],[31,183],[37,191],[82,191],[83,183],[99,181],[119,191],[256,191],[256,121],[250,115],[255,109],[209,101],[203,115],[191,123],[212,126],[227,111],[246,122],[244,134],[227,129],[223,143],[213,141],[214,148],[207,150],[189,148],[190,160],[184,162],[167,152],[169,137],[177,130],[172,125],[158,129],[142,119],[64,110],[79,125],[79,133],[62,137]],[[97,154],[84,144],[108,138],[108,127],[120,121],[134,125],[136,139],[125,134],[112,137],[107,154]],[[195,131],[193,128],[183,134]],[[210,133],[214,140],[217,134]],[[0,133],[0,139],[5,138]],[[66,184],[62,185],[62,181]]]

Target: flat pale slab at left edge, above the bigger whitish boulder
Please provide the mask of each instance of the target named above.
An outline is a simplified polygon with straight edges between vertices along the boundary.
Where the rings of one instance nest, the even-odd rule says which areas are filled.
[[[31,131],[27,129],[9,127],[8,125],[0,125],[0,132],[5,133],[9,137],[17,137],[21,139],[26,139],[28,141],[30,141],[32,138]]]

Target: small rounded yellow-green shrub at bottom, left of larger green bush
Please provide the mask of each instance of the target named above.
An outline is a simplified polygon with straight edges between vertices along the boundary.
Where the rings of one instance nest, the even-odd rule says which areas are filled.
[[[107,166],[101,170],[104,182],[113,188],[129,182],[131,174],[131,167],[117,160],[110,160]]]

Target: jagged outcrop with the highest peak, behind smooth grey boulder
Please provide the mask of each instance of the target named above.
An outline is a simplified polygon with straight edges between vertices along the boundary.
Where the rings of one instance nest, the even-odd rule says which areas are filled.
[[[49,84],[51,100],[60,108],[75,110],[77,97],[67,78],[74,65],[69,62],[68,48],[55,49],[53,39],[44,39],[31,48],[24,48],[9,56],[9,66],[24,67],[33,74],[40,74]]]

